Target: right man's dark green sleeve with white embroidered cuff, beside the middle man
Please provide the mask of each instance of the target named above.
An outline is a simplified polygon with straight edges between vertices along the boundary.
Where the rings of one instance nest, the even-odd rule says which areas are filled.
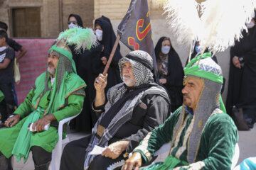
[[[178,121],[178,116],[181,113],[181,108],[178,108],[169,118],[161,124],[158,128],[149,132],[144,140],[140,142],[139,146],[133,152],[139,152],[144,158],[144,162],[148,163],[154,156],[154,153],[160,149],[162,145],[168,143],[172,139],[174,126]]]

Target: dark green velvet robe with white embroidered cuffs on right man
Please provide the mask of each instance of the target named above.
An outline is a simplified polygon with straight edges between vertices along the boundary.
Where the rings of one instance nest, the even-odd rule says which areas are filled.
[[[149,162],[162,145],[170,142],[173,137],[174,127],[181,113],[178,108],[165,122],[144,138],[134,152],[140,152],[144,162]],[[238,130],[233,120],[226,113],[212,114],[201,134],[198,154],[193,164],[188,164],[188,139],[193,127],[193,115],[185,113],[184,123],[178,131],[174,144],[169,151],[169,157],[163,163],[156,163],[146,169],[208,169],[230,170],[235,144],[238,142]],[[191,125],[191,126],[190,126]],[[176,164],[173,164],[176,162]],[[168,164],[173,164],[168,166]]]

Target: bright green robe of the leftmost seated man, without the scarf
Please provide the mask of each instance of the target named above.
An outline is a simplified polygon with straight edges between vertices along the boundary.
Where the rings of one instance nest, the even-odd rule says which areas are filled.
[[[28,118],[28,115],[38,107],[43,108],[44,110],[44,112],[41,112],[40,118],[43,118],[43,115],[46,113],[52,98],[51,94],[53,93],[53,89],[49,88],[50,90],[42,97],[41,95],[38,95],[38,92],[36,92],[36,89],[40,89],[39,86],[44,86],[45,79],[46,72],[36,79],[35,88],[31,89],[25,101],[21,103],[21,106],[19,106],[14,112],[14,114],[21,115],[21,120],[12,128],[4,128],[0,130],[0,151],[7,158],[11,157],[11,152],[16,142],[16,138],[18,137],[23,123]],[[51,87],[50,78],[48,79],[48,86]],[[86,85],[78,75],[74,73],[67,73],[65,77],[65,84],[63,84],[63,86],[63,89],[65,89],[63,93],[65,94],[65,96],[63,96],[63,98],[65,98],[64,103],[62,106],[54,106],[54,108],[58,109],[53,111],[53,115],[58,121],[80,113],[85,97],[84,88]],[[33,101],[36,101],[36,104],[33,104],[35,103]],[[49,130],[43,132],[32,132],[29,147],[39,146],[47,152],[52,152],[57,142],[58,129],[50,126]]]

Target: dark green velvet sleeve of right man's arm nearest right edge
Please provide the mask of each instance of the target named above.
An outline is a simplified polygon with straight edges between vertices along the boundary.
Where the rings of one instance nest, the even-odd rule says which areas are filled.
[[[238,130],[230,116],[226,113],[213,115],[202,134],[198,151],[205,154],[205,159],[197,158],[197,162],[181,166],[180,170],[230,170],[237,142]]]

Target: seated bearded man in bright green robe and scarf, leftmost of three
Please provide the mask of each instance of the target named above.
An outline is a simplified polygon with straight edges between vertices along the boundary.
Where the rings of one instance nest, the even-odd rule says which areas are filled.
[[[36,170],[48,169],[51,152],[58,142],[54,122],[80,113],[85,97],[85,82],[75,74],[75,64],[68,46],[62,41],[50,48],[47,71],[35,82],[25,101],[6,120],[0,130],[0,169],[12,169],[15,155],[24,162],[31,150]],[[33,123],[36,132],[28,130]],[[50,123],[50,128],[44,126]]]

